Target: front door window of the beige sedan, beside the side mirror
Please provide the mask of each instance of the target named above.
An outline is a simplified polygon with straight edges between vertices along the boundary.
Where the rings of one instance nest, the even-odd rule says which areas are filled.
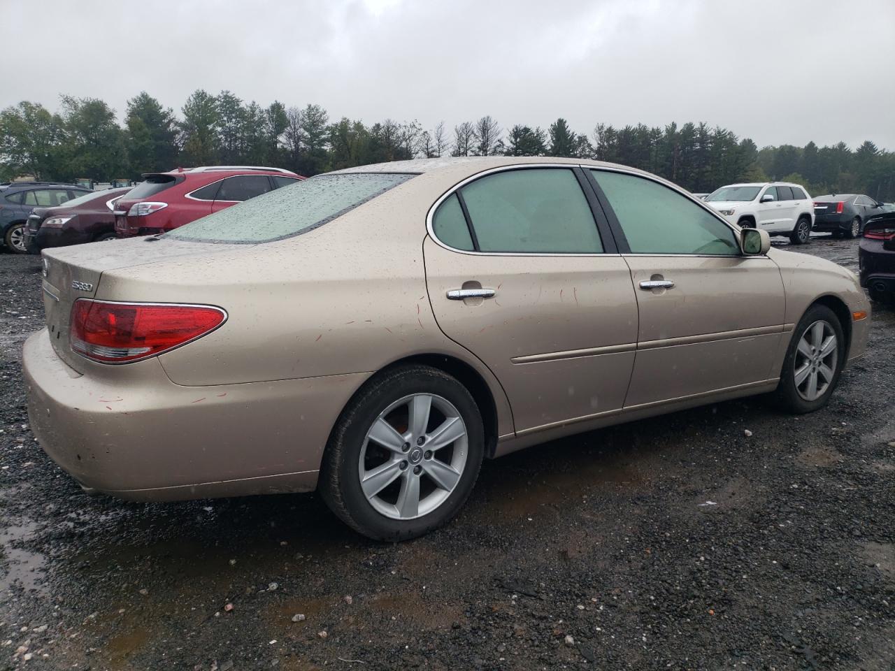
[[[634,174],[593,170],[634,254],[739,254],[731,228],[693,200]]]

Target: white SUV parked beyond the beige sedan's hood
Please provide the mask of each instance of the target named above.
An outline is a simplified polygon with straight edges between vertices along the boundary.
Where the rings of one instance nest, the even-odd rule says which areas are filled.
[[[808,242],[814,224],[814,202],[798,184],[730,184],[706,196],[705,203],[731,224],[786,235],[793,244]]]

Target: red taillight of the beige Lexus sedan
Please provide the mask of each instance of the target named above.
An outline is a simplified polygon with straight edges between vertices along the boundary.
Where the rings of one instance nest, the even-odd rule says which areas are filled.
[[[207,305],[112,303],[79,298],[72,305],[69,342],[93,361],[123,363],[166,352],[224,323]]]

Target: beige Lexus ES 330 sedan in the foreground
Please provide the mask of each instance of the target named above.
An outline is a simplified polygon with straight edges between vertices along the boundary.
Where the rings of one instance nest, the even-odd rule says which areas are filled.
[[[374,539],[485,457],[738,396],[830,398],[857,278],[673,184],[547,158],[322,174],[167,234],[44,251],[40,444],[135,500],[320,489]]]

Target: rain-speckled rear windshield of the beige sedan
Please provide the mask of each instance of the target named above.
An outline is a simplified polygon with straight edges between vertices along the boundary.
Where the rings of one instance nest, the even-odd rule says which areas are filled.
[[[197,242],[271,242],[326,224],[413,174],[319,174],[222,209],[166,233]]]

